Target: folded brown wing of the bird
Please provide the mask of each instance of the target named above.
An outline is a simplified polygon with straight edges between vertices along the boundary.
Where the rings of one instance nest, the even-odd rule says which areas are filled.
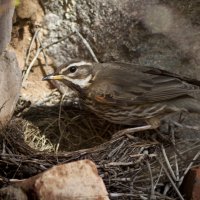
[[[133,65],[104,66],[90,88],[90,96],[104,104],[143,104],[190,96],[191,90],[196,90],[179,77],[158,72]]]

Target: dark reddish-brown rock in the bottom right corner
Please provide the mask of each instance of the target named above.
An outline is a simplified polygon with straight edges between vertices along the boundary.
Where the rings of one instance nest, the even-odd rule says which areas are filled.
[[[181,186],[186,200],[200,199],[200,167],[190,169]]]

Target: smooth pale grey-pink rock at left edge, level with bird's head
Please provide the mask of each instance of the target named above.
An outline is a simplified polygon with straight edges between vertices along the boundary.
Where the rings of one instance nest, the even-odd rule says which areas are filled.
[[[21,88],[21,71],[14,52],[0,56],[0,124],[5,125],[14,112]]]

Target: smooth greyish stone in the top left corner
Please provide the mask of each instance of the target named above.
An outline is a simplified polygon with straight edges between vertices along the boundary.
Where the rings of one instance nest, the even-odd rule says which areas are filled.
[[[13,13],[14,6],[12,0],[0,1],[0,54],[11,39]]]

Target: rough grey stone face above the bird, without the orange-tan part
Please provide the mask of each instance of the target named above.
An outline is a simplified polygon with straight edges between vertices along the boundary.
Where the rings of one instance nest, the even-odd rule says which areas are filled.
[[[186,2],[43,1],[46,44],[68,36],[48,53],[56,65],[75,57],[92,60],[80,38],[72,34],[76,29],[101,62],[134,62],[200,79],[197,0]],[[57,23],[52,26],[49,17]]]

